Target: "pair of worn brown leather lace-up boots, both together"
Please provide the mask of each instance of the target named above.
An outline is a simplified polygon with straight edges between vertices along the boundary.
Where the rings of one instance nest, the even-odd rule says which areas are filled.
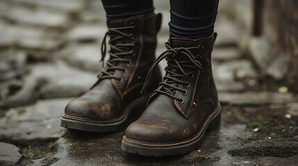
[[[210,56],[216,33],[199,39],[169,36],[155,57],[161,15],[108,21],[110,58],[92,88],[65,107],[61,126],[108,132],[127,127],[122,150],[144,156],[185,154],[220,124]],[[166,59],[162,78],[158,63]],[[103,62],[104,63],[104,62]],[[141,94],[140,92],[142,91]],[[145,98],[149,97],[149,99]]]

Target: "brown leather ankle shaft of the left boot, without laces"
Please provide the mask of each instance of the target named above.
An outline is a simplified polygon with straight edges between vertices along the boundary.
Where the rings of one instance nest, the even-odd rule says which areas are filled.
[[[123,57],[124,59],[129,60],[129,64],[117,64],[117,67],[124,67],[126,68],[126,71],[115,71],[115,73],[113,73],[115,77],[122,77],[123,80],[119,82],[112,79],[112,83],[115,86],[115,89],[117,89],[119,95],[122,96],[122,98],[124,95],[128,95],[128,93],[131,93],[131,89],[133,89],[135,93],[140,93],[142,87],[140,86],[140,88],[135,89],[135,86],[144,84],[144,80],[149,71],[149,68],[156,59],[156,35],[158,33],[158,30],[160,30],[161,15],[156,15],[151,12],[145,15],[130,17],[129,19],[108,21],[107,24],[109,30],[117,29],[124,34],[129,35],[129,37],[120,38],[118,41],[117,39],[115,39],[115,37],[115,40],[112,41],[113,36],[111,36],[110,43],[111,41],[114,42],[114,46],[117,44],[135,45],[131,47],[131,50],[129,50],[130,48],[125,48],[126,51],[133,51],[133,54],[124,55]],[[113,53],[113,51],[111,52]],[[161,75],[158,69],[156,72],[155,84],[153,86],[156,87],[156,84],[158,84],[160,80]],[[151,90],[153,89],[154,88],[152,87]]]

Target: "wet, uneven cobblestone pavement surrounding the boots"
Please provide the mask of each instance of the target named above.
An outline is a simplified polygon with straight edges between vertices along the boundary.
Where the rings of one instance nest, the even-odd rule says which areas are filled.
[[[242,42],[242,31],[249,30],[231,17],[235,8],[251,4],[231,1],[220,2],[215,25],[221,125],[195,151],[160,158],[122,151],[125,129],[88,133],[60,127],[67,102],[88,90],[101,70],[101,1],[0,1],[0,165],[297,165],[298,95],[283,84],[260,81]],[[168,37],[169,7],[154,2],[164,17],[158,56]],[[249,8],[242,12],[249,15]]]

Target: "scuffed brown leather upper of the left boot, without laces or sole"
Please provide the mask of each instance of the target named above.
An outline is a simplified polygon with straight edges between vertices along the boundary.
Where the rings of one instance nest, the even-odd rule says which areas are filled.
[[[160,29],[161,15],[153,12],[146,15],[137,15],[129,19],[108,21],[108,28],[135,28],[123,30],[122,33],[133,34],[131,38],[116,40],[113,44],[135,44],[133,55],[125,55],[129,63],[119,62],[117,67],[125,68],[124,71],[115,70],[113,76],[121,78],[105,78],[104,74],[92,88],[83,95],[75,98],[65,107],[65,114],[76,118],[98,120],[101,122],[117,122],[125,116],[124,108],[131,102],[142,98],[140,91],[149,68],[155,61],[156,35]],[[120,44],[120,45],[119,45]],[[106,66],[104,70],[108,70]],[[160,71],[151,84],[154,90],[161,80]]]

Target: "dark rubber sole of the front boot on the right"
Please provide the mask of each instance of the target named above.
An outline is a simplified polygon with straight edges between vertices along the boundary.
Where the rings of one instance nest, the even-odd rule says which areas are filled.
[[[123,136],[122,139],[122,146],[121,149],[123,151],[129,152],[131,154],[138,154],[141,156],[174,156],[174,155],[181,155],[181,154],[187,154],[190,151],[194,151],[194,149],[197,149],[201,145],[201,143],[204,140],[206,131],[212,131],[213,129],[216,129],[220,126],[220,118],[221,118],[221,108],[220,105],[217,108],[217,113],[211,120],[208,122],[206,127],[201,132],[201,135],[199,135],[196,139],[187,142],[187,143],[181,143],[178,145],[170,145],[170,146],[163,146],[158,145],[156,146],[151,145],[149,146],[150,142],[141,142],[138,143],[138,141],[130,140],[126,138],[126,136]]]

